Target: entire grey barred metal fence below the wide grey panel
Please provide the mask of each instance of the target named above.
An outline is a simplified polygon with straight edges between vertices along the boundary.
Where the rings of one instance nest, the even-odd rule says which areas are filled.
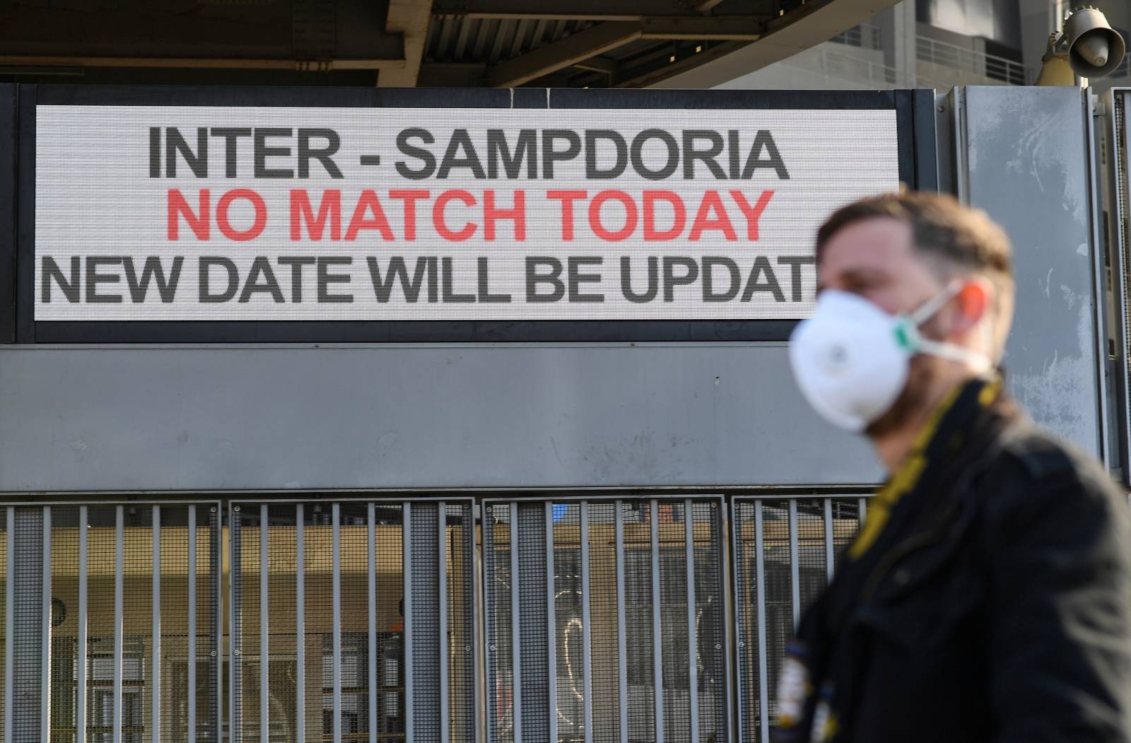
[[[3,743],[765,742],[785,643],[864,510],[0,507]]]

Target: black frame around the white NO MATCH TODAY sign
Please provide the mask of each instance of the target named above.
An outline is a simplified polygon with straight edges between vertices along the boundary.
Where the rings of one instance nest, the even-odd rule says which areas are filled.
[[[11,98],[11,113],[6,101]],[[35,121],[46,105],[895,110],[899,180],[938,190],[933,90],[287,88],[0,85],[0,343],[530,343],[785,340],[796,320],[35,321]],[[18,121],[17,121],[18,116]],[[6,128],[7,127],[7,128]],[[8,129],[11,129],[9,132]],[[18,164],[17,164],[18,159]]]

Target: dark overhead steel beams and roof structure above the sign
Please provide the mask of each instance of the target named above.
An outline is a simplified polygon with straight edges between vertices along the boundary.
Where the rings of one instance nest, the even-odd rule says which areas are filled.
[[[891,0],[202,0],[0,6],[0,79],[709,87]],[[734,63],[725,58],[744,50]],[[690,84],[683,76],[696,71]]]

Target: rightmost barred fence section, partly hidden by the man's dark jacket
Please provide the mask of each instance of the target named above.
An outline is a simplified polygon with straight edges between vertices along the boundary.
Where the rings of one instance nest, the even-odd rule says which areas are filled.
[[[785,647],[840,565],[864,499],[736,499],[732,511],[739,735],[767,743]]]

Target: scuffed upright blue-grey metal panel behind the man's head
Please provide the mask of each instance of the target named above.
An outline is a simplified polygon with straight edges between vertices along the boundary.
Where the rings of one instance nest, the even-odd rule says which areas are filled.
[[[1079,88],[968,87],[958,141],[969,202],[1013,242],[1010,390],[1037,423],[1098,456],[1087,123]]]

